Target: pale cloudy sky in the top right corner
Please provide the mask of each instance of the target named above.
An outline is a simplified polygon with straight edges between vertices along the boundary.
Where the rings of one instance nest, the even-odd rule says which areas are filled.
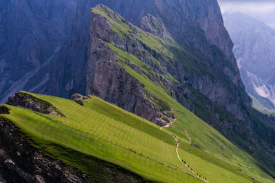
[[[221,12],[243,12],[275,29],[275,0],[218,0]]]

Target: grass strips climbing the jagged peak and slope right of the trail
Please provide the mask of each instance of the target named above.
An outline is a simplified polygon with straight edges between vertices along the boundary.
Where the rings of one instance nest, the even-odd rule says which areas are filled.
[[[178,47],[177,45],[171,45],[172,43],[170,42],[164,43],[163,40],[157,36],[143,32],[142,29],[138,27],[135,27],[138,30],[135,36],[129,34],[129,32],[131,32],[131,27],[120,22],[119,20],[122,19],[122,17],[118,14],[115,14],[117,21],[113,21],[109,16],[111,10],[108,8],[94,8],[93,11],[109,19],[113,31],[118,35],[129,36],[128,38],[135,37],[151,47],[151,49],[154,49],[162,55],[168,56],[170,60],[176,58],[173,51],[169,52],[170,50],[168,50],[168,48]],[[193,166],[197,164],[196,171],[200,171],[202,175],[206,175],[211,182],[245,182],[245,180],[251,181],[252,178],[254,180],[259,180],[259,182],[273,181],[270,175],[267,175],[267,173],[261,169],[261,167],[265,167],[261,162],[255,160],[246,154],[245,151],[242,151],[230,143],[230,141],[219,134],[217,130],[214,130],[214,128],[201,121],[201,119],[195,117],[194,114],[186,110],[180,103],[172,99],[169,95],[170,91],[163,87],[162,82],[150,80],[148,78],[148,75],[151,75],[150,66],[146,65],[133,54],[116,47],[113,42],[105,42],[105,44],[115,51],[117,57],[121,61],[120,65],[125,71],[144,84],[144,93],[151,93],[155,100],[166,103],[166,106],[170,106],[170,111],[175,113],[178,117],[177,123],[171,128],[164,129],[164,131],[177,136],[181,142],[179,153],[186,158],[192,157],[190,161],[194,163]],[[181,53],[184,53],[184,49],[178,49],[181,49]],[[139,66],[145,74],[139,74],[134,71],[131,66],[129,66],[129,60],[136,66]],[[186,66],[193,70],[197,69],[199,73],[204,72],[200,70],[203,69],[200,63],[194,66],[194,64],[196,64],[194,60],[188,62],[188,57],[186,57],[186,61]],[[203,149],[191,148],[190,145],[188,145],[188,138],[186,137],[185,130],[189,132],[192,143],[200,145]],[[190,152],[192,152],[192,155],[188,154]],[[200,166],[208,168],[203,169]]]

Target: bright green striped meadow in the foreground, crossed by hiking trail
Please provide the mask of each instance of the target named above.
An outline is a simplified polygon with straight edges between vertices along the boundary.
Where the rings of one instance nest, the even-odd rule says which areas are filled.
[[[89,164],[72,161],[52,144],[118,164],[148,180],[201,182],[177,159],[175,134],[180,141],[181,158],[209,182],[251,182],[252,178],[272,182],[252,157],[175,101],[171,100],[171,106],[176,107],[179,119],[173,127],[160,130],[159,126],[98,97],[92,96],[80,106],[68,99],[28,95],[52,103],[65,117],[8,105],[10,114],[1,114],[1,117],[20,127],[36,147],[87,173]],[[165,93],[160,95],[168,97]],[[192,143],[204,149],[192,147],[184,130],[189,132]]]

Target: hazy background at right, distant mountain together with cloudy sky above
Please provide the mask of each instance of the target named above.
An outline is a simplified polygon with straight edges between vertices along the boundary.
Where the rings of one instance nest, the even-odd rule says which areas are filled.
[[[241,77],[254,108],[274,110],[275,3],[220,1],[223,21],[234,42]]]

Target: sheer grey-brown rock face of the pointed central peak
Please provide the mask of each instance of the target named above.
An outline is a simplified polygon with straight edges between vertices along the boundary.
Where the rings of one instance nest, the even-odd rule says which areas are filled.
[[[98,7],[104,8],[103,5]],[[114,19],[115,16],[118,16],[111,11],[109,14]],[[123,21],[124,23],[128,23],[126,20]],[[131,25],[130,23],[128,24]],[[120,59],[117,58],[115,52],[105,42],[118,43],[121,47],[127,49],[127,51],[137,54],[140,53],[141,47],[145,48],[136,40],[132,40],[131,38],[124,40],[120,38],[118,34],[113,33],[112,28],[107,18],[91,12],[91,34],[86,78],[87,93],[92,93],[106,101],[115,103],[124,108],[124,110],[133,112],[153,123],[165,125],[164,121],[159,120],[165,114],[162,114],[159,108],[146,99],[147,96],[142,91],[143,84],[122,69]],[[134,27],[133,30],[135,30]],[[131,66],[137,68],[140,73],[142,72],[138,66],[134,64]]]

